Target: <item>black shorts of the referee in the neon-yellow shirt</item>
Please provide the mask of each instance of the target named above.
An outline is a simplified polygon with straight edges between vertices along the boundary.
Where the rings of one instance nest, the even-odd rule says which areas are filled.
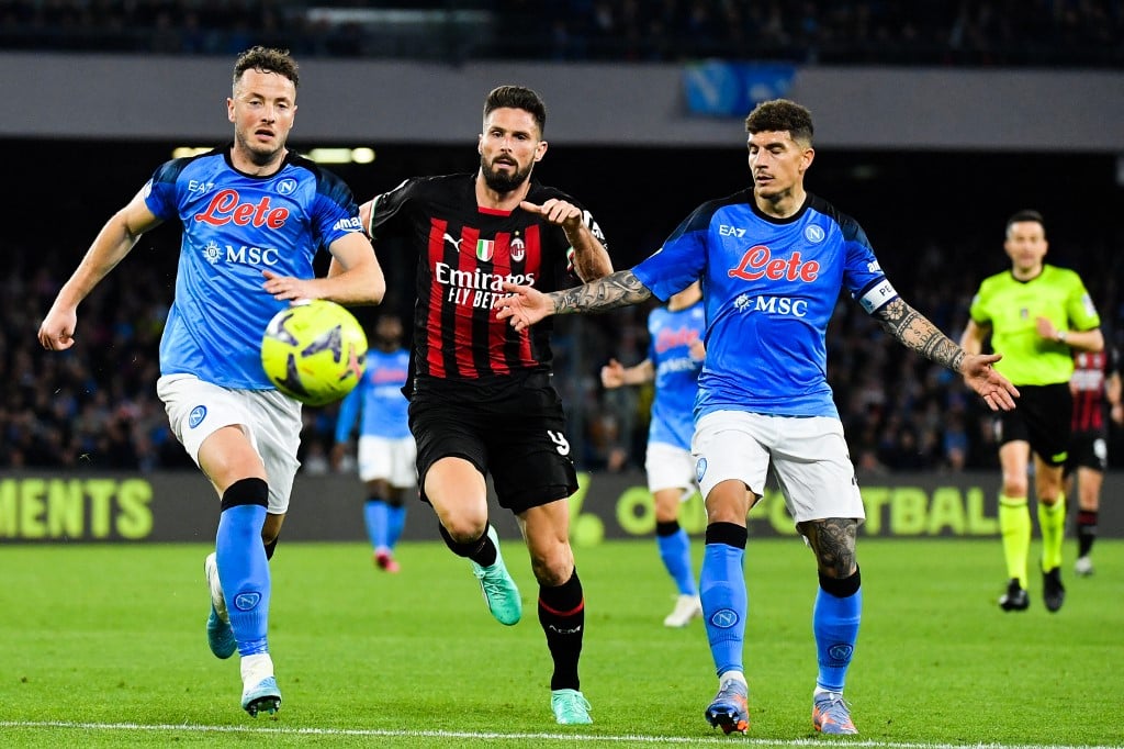
[[[1073,412],[1069,385],[1019,385],[1018,392],[1015,409],[999,413],[999,444],[1030,442],[1039,458],[1051,466],[1063,464]]]

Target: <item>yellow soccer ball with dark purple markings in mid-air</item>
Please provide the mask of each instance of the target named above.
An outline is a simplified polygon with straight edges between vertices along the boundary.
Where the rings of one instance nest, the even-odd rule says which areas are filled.
[[[309,406],[339,400],[359,385],[366,335],[350,312],[325,299],[287,307],[262,339],[262,368],[277,389]]]

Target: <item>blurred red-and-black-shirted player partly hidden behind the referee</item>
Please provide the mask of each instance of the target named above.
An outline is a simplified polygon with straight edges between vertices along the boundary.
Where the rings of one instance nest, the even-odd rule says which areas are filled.
[[[1108,470],[1108,421],[1124,424],[1121,403],[1120,355],[1115,349],[1073,357],[1069,379],[1073,395],[1073,433],[1066,461],[1066,494],[1077,477],[1077,561],[1073,571],[1093,575],[1093,543],[1097,539],[1100,489]]]

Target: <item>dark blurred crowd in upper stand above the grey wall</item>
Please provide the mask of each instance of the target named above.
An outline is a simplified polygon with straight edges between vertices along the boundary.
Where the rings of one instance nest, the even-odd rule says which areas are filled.
[[[0,0],[0,49],[338,57],[1124,63],[1124,0]]]

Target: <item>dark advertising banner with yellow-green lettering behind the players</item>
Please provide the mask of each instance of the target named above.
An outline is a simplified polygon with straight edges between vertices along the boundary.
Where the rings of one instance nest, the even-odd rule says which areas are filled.
[[[652,497],[640,471],[581,473],[571,498],[575,545],[602,539],[650,538]],[[885,473],[860,477],[868,538],[986,538],[999,533],[999,472]],[[1098,532],[1124,538],[1124,473],[1105,477]],[[285,541],[360,541],[363,486],[351,475],[298,476],[282,535]],[[491,517],[505,536],[518,536],[511,514],[495,505]],[[1070,499],[1070,504],[1073,500]],[[409,500],[405,540],[437,539],[432,511]],[[1070,507],[1070,513],[1072,513]],[[680,512],[680,524],[701,535],[706,512],[698,493]],[[0,476],[0,543],[210,541],[218,498],[194,471],[157,473],[6,472]],[[783,498],[767,489],[750,512],[751,536],[794,535]]]

